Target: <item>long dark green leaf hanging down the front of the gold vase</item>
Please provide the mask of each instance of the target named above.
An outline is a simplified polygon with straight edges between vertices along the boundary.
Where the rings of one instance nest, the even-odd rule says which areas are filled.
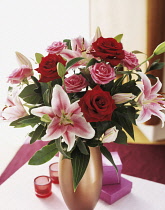
[[[88,153],[90,152],[88,151]],[[72,162],[72,169],[73,169],[73,188],[75,192],[80,180],[82,179],[86,171],[86,168],[89,163],[90,155],[84,155],[79,151],[78,148],[76,148],[72,152],[71,157],[72,157],[71,162]]]

